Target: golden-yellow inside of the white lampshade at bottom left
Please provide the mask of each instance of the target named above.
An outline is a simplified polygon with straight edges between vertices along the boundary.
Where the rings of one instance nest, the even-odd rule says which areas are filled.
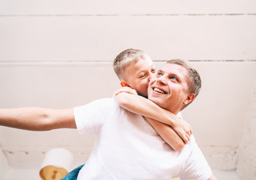
[[[43,180],[59,180],[67,174],[68,171],[66,169],[56,166],[45,166],[40,171],[40,177]]]

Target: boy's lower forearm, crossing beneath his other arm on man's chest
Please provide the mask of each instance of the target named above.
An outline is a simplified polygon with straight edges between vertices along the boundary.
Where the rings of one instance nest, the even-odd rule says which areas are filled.
[[[169,144],[175,151],[181,151],[184,148],[184,141],[178,136],[177,133],[166,124],[160,121],[155,121],[152,118],[147,118],[148,122],[154,127],[154,129],[159,133],[163,140]]]

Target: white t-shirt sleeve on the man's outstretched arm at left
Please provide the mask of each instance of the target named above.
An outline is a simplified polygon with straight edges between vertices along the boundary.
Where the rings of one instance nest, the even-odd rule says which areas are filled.
[[[97,133],[102,128],[111,112],[111,98],[92,101],[81,107],[74,108],[75,123],[78,133]]]

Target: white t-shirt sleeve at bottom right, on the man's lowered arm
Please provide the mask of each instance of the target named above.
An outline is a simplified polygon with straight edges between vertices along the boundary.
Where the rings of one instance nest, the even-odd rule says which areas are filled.
[[[212,175],[212,170],[196,142],[182,169],[181,180],[207,180]]]

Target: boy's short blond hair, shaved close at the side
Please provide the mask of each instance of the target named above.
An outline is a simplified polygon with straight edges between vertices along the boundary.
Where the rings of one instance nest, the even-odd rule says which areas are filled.
[[[140,58],[145,59],[147,57],[149,56],[141,49],[126,49],[114,58],[114,72],[119,80],[123,80],[127,67],[135,65]]]

